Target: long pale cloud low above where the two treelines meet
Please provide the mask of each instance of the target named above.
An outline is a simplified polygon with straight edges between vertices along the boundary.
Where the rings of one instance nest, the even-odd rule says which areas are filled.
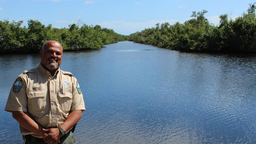
[[[116,20],[116,21],[103,21],[98,23],[101,27],[113,29],[116,33],[122,35],[130,35],[136,31],[144,30],[145,28],[156,27],[157,23],[169,22],[169,24],[174,24],[178,20],[149,20],[145,22],[129,22],[126,20]],[[183,23],[183,22],[182,22]]]

